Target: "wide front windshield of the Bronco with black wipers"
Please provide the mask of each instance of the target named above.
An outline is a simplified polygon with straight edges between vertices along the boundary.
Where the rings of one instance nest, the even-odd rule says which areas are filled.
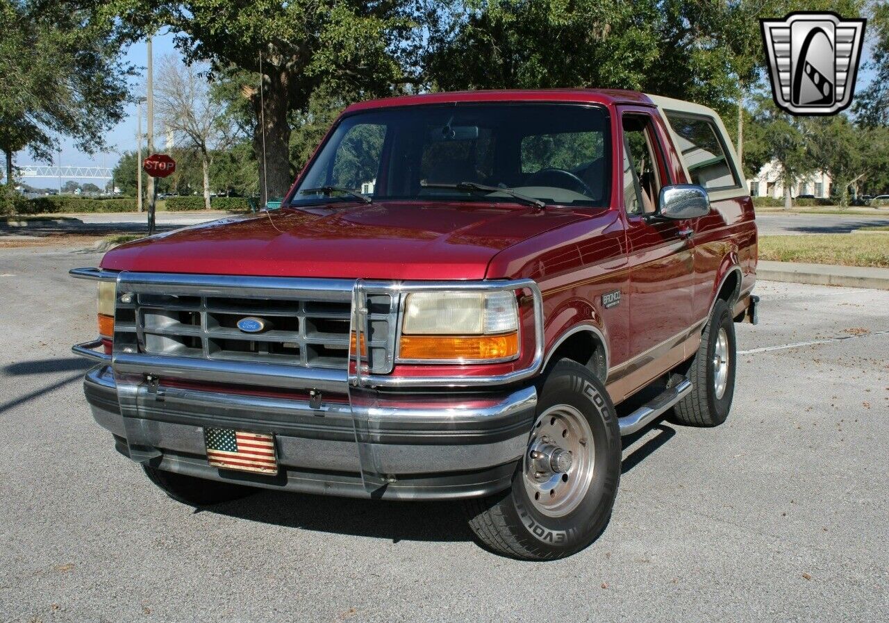
[[[546,204],[608,200],[604,108],[473,104],[380,108],[342,119],[290,204],[437,199]],[[469,182],[469,186],[465,183]]]

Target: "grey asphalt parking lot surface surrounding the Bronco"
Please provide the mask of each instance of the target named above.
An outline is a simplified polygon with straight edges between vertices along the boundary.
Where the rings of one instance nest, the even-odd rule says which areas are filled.
[[[603,536],[524,563],[453,504],[166,498],[68,350],[95,302],[66,271],[98,260],[0,249],[0,621],[885,619],[889,292],[759,284],[725,425],[629,440]]]

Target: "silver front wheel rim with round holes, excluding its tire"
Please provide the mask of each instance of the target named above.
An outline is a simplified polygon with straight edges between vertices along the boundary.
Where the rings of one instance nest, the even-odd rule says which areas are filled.
[[[525,452],[525,491],[544,515],[576,508],[593,482],[596,449],[589,422],[573,406],[557,404],[534,423]]]

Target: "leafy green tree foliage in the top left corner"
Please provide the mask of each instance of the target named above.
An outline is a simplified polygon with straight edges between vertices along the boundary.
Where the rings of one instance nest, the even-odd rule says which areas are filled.
[[[0,149],[48,161],[59,135],[92,153],[124,117],[132,68],[113,26],[78,4],[0,0]]]

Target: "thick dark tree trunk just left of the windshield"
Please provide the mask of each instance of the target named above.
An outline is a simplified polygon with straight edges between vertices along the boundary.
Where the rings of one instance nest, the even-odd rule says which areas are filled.
[[[269,72],[265,89],[253,96],[256,129],[253,132],[253,152],[259,164],[260,207],[269,199],[283,197],[290,188],[290,125],[287,124],[289,95],[287,76]]]

